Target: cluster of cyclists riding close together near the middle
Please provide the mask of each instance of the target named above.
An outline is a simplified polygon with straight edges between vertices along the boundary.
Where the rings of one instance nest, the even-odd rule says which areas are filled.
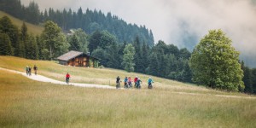
[[[129,88],[132,88],[132,82],[134,82],[134,87],[137,88],[137,89],[141,89],[141,83],[142,83],[142,80],[138,77],[135,77],[134,80],[132,81],[131,77],[125,77],[124,79],[124,88],[125,89],[129,89]],[[121,86],[120,86],[120,83],[121,83],[121,79],[119,78],[119,76],[116,78],[116,88],[119,89]],[[154,83],[153,79],[151,79],[149,77],[148,79],[148,89],[152,89],[153,88],[153,85],[152,83]]]

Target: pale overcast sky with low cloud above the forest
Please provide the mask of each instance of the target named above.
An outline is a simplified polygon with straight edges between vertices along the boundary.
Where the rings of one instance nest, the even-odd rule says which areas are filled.
[[[21,0],[28,4],[31,0]],[[40,9],[101,9],[128,23],[145,25],[154,34],[154,42],[185,47],[183,29],[198,40],[210,29],[222,29],[243,55],[256,58],[256,0],[34,0]],[[256,61],[255,61],[256,62]],[[256,64],[255,64],[256,65]]]

